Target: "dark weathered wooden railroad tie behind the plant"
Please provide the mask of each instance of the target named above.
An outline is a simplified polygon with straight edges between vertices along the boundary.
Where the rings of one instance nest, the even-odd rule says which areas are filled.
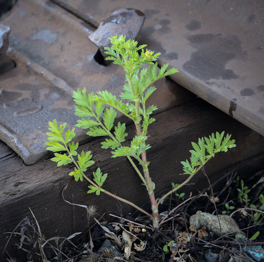
[[[236,140],[237,147],[227,153],[218,153],[209,161],[205,168],[211,182],[222,176],[234,165],[253,158],[262,159],[264,153],[264,138],[260,134],[239,123],[232,117],[214,108],[202,99],[195,99],[183,105],[169,109],[155,115],[156,121],[150,125],[148,142],[152,146],[147,151],[150,161],[150,174],[156,185],[155,192],[161,192],[171,187],[171,182],[179,183],[187,177],[179,176],[182,173],[180,161],[190,157],[191,142],[197,142],[199,137],[209,136],[212,132],[231,133]],[[133,125],[127,127],[128,143],[133,138]],[[79,147],[79,150],[93,153],[95,165],[86,172],[91,177],[92,171],[100,167],[102,172],[108,173],[104,188],[116,195],[127,198],[141,206],[147,201],[147,192],[141,185],[141,180],[130,166],[125,157],[111,158],[111,150],[102,149],[96,139]],[[263,168],[259,162],[249,161],[250,172]],[[74,181],[68,176],[73,166],[57,167],[49,159],[26,166],[22,159],[13,153],[4,143],[0,143],[0,250],[3,250],[7,236],[18,223],[32,216],[29,207],[35,214],[42,233],[48,238],[52,236],[70,236],[82,231],[87,226],[85,208],[69,205],[63,200],[62,190],[68,184],[64,196],[66,200],[83,204],[96,205],[98,214],[105,212],[123,214],[134,211],[129,206],[117,202],[115,199],[101,193],[100,196],[87,194],[86,181]],[[204,175],[199,172],[192,179],[192,187],[183,188],[183,191],[192,191],[208,186]],[[150,211],[150,205],[145,205]],[[111,219],[105,216],[105,219]],[[22,251],[8,246],[8,252],[20,257]],[[0,252],[2,253],[2,251]]]

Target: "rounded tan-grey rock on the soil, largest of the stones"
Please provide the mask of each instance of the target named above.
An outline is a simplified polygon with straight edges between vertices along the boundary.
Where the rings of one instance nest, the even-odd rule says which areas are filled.
[[[243,232],[240,231],[237,223],[235,222],[232,217],[228,215],[218,215],[220,224],[221,224],[221,231],[223,235],[231,234],[235,235],[238,231],[240,234]],[[194,225],[196,230],[201,229],[203,226],[206,227],[208,231],[212,231],[218,235],[221,235],[219,221],[217,216],[211,215],[209,213],[204,213],[201,211],[197,211],[195,215],[190,217],[190,225]]]

